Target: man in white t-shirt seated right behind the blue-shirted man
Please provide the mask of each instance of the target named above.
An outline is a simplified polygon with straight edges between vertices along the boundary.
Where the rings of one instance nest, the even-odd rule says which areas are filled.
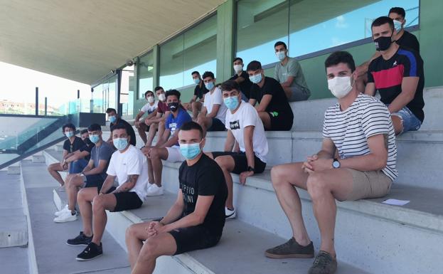
[[[205,102],[201,113],[198,115],[197,122],[203,127],[203,136],[207,131],[225,130],[226,106],[223,104],[223,98],[220,88],[215,86],[214,73],[206,71],[203,73],[203,83],[209,93],[205,95]]]

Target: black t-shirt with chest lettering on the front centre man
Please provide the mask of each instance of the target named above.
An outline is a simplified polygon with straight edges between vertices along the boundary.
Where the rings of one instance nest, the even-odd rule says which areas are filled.
[[[193,213],[199,195],[214,196],[202,225],[208,228],[213,236],[220,236],[225,226],[225,202],[228,197],[228,188],[225,176],[218,164],[206,154],[202,154],[198,162],[191,167],[188,167],[186,161],[181,164],[178,180],[185,205],[183,216]]]

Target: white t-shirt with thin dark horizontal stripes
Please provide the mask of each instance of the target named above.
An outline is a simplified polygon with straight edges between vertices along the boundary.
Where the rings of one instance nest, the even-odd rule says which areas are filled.
[[[341,159],[369,154],[368,138],[380,134],[388,135],[388,163],[382,172],[395,180],[397,145],[393,122],[383,102],[360,94],[345,111],[337,103],[324,114],[323,137],[332,140]]]

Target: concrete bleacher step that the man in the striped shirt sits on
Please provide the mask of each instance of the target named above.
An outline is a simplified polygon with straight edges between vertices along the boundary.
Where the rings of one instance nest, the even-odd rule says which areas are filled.
[[[164,162],[164,187],[177,191],[179,164]],[[289,238],[292,234],[270,183],[269,171],[235,181],[239,221]],[[319,248],[319,231],[306,191],[299,189],[306,228]],[[383,199],[338,202],[336,251],[338,259],[370,273],[441,273],[437,260],[443,243],[442,190],[395,185]],[[385,199],[410,200],[407,206],[381,204]],[[422,255],[427,254],[427,255]],[[413,263],[420,258],[420,263]]]

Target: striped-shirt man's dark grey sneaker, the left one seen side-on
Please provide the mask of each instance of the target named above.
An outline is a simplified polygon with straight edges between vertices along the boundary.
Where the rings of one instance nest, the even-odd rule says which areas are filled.
[[[314,258],[314,245],[309,243],[307,246],[300,246],[295,238],[292,237],[286,243],[269,248],[265,251],[267,258],[282,259],[282,258]]]

